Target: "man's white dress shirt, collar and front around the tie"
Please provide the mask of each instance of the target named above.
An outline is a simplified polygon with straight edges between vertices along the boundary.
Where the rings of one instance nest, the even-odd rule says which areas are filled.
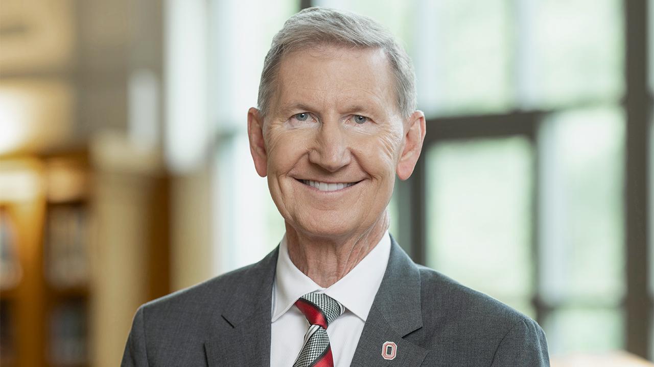
[[[331,287],[322,288],[292,263],[284,235],[279,244],[273,282],[270,365],[290,367],[295,362],[309,322],[294,304],[300,296],[318,291],[345,306],[345,313],[329,325],[327,334],[332,346],[334,367],[349,366],[389,256],[390,236],[387,231],[377,246],[349,273]]]

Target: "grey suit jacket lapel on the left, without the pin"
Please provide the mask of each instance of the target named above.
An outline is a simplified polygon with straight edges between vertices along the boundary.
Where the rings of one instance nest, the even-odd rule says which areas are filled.
[[[229,306],[207,330],[209,366],[269,366],[271,296],[279,247],[247,270]]]

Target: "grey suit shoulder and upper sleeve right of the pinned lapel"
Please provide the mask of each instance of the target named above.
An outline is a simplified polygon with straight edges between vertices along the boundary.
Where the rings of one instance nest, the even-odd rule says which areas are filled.
[[[422,328],[409,338],[426,349],[438,349],[424,364],[549,365],[545,334],[536,321],[436,270],[418,268]]]

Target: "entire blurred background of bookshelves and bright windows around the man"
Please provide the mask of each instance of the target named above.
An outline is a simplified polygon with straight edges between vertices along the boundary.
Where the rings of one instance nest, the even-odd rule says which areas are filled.
[[[654,360],[653,1],[3,0],[0,363],[116,366],[140,304],[277,246],[246,114],[313,5],[415,63],[411,257],[536,319],[554,366]]]

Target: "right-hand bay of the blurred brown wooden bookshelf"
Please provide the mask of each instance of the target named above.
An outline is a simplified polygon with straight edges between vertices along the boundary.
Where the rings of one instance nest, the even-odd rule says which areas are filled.
[[[88,366],[91,170],[84,152],[45,157],[44,165],[46,364]]]

